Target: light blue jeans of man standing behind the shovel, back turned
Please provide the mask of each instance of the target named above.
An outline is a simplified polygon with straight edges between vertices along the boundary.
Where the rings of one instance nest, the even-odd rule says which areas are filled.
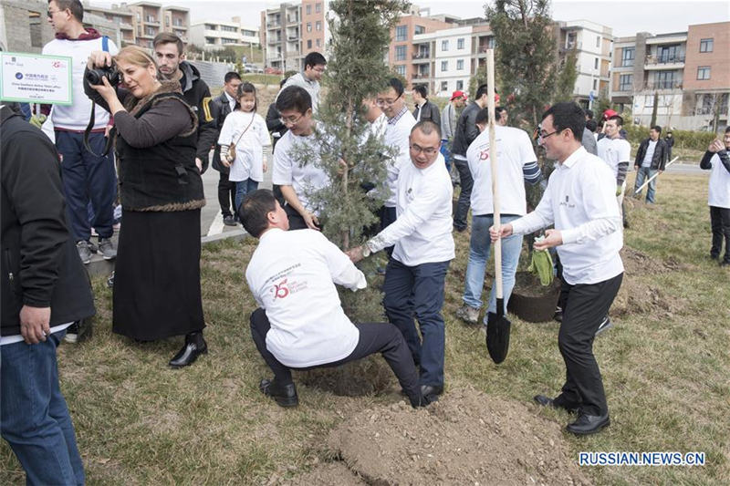
[[[502,223],[515,221],[519,216],[502,214]],[[470,307],[482,307],[482,289],[485,286],[485,268],[492,250],[489,238],[489,227],[495,222],[492,214],[472,216],[472,239],[469,243],[469,263],[466,265],[464,283],[464,304]],[[515,286],[515,272],[522,251],[522,235],[509,236],[502,239],[502,288],[505,295],[505,312],[512,288]],[[489,292],[488,312],[496,312],[496,285]],[[485,317],[486,318],[486,317]]]

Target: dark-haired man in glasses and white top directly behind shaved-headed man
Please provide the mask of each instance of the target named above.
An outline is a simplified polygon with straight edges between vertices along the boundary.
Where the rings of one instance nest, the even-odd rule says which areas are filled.
[[[403,99],[403,84],[398,78],[391,78],[388,81],[388,88],[378,93],[375,100],[382,112],[388,119],[385,124],[385,138],[383,143],[395,150],[392,160],[388,160],[388,194],[385,197],[385,203],[381,208],[381,231],[391,225],[395,221],[395,192],[398,181],[398,174],[401,167],[411,163],[410,149],[408,147],[408,138],[411,135],[411,129],[416,124],[413,115],[405,106]],[[392,246],[385,249],[389,255],[393,252]]]

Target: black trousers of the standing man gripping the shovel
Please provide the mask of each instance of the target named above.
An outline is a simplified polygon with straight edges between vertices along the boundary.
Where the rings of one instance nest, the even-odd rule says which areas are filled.
[[[563,321],[558,332],[558,347],[566,367],[558,405],[580,408],[589,415],[609,412],[599,364],[593,356],[593,338],[619,292],[623,274],[598,284],[563,282]]]

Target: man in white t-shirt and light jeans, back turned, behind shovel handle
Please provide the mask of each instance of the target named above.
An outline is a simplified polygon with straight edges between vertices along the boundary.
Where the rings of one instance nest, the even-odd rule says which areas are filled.
[[[477,124],[486,109],[477,115]],[[506,111],[503,111],[506,113]],[[502,125],[495,126],[497,150],[497,181],[499,183],[500,213],[502,222],[511,222],[527,213],[525,182],[537,184],[542,173],[527,132]],[[469,263],[464,278],[464,305],[456,315],[469,324],[476,324],[482,307],[482,289],[485,284],[485,268],[489,261],[491,242],[489,227],[494,224],[494,200],[492,195],[492,169],[489,160],[489,129],[485,129],[466,150],[466,160],[474,179],[472,190],[472,236],[469,243]],[[502,286],[505,307],[512,288],[522,251],[522,235],[515,234],[502,242]],[[487,312],[496,312],[496,289],[489,294]],[[506,311],[505,311],[506,312]]]

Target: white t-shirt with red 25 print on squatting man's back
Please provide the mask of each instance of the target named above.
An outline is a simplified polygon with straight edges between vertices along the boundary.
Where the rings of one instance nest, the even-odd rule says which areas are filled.
[[[266,231],[245,279],[271,324],[266,349],[287,367],[339,361],[358,345],[360,332],[342,310],[335,284],[362,289],[365,275],[322,233]]]

